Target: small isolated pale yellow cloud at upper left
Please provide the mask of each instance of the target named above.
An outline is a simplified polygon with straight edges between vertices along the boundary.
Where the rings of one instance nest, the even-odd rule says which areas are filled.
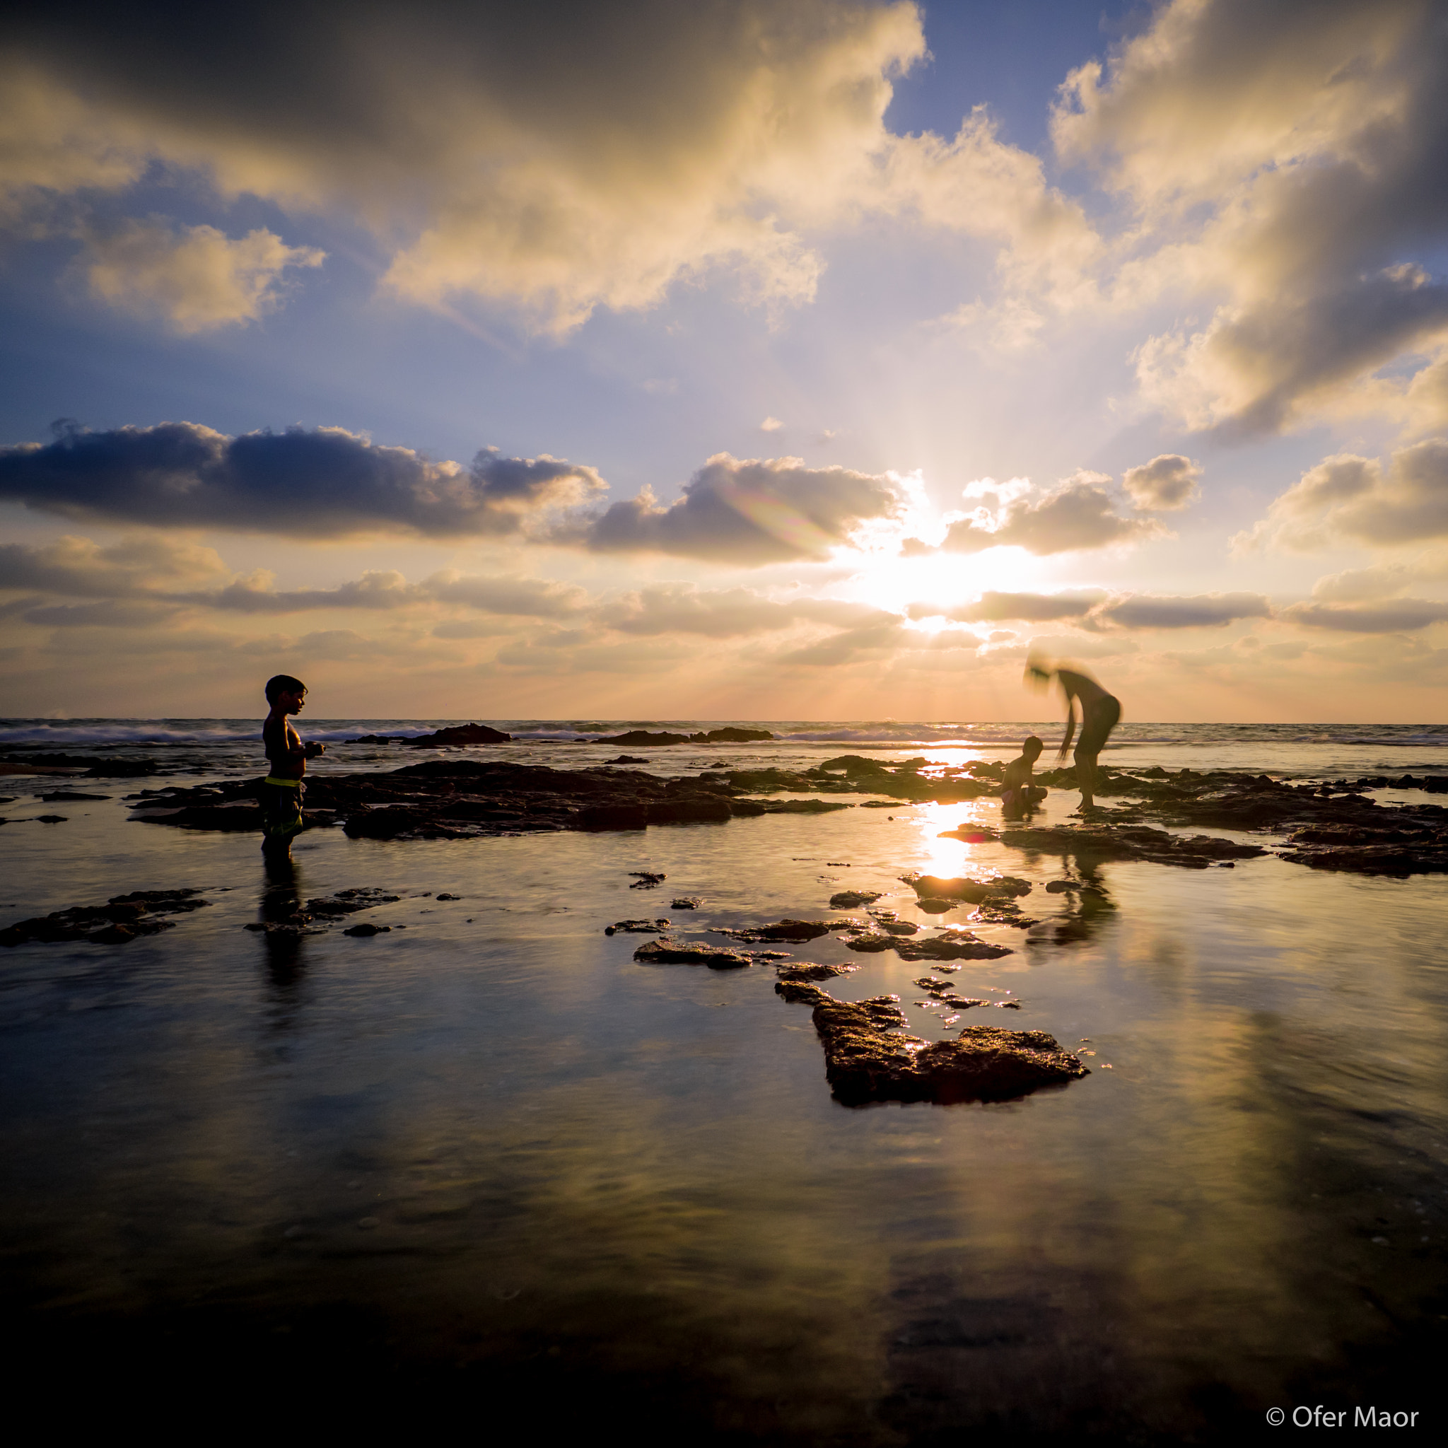
[[[258,229],[230,240],[214,226],[177,235],[159,220],[125,222],[87,237],[84,271],[93,295],[122,311],[158,316],[191,336],[252,321],[278,300],[282,271],[320,266],[326,252],[287,246]]]

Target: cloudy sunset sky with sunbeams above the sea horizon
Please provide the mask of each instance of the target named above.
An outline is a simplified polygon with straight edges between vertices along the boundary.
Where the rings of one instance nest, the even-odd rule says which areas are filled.
[[[1448,721],[1448,4],[26,6],[10,715]]]

